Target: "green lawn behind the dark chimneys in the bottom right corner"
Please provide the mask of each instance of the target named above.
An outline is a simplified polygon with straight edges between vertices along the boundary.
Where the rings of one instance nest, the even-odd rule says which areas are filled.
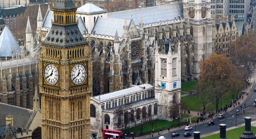
[[[239,136],[242,134],[242,132],[245,130],[245,126],[240,127],[240,128],[235,128],[232,130],[226,131],[226,138],[227,139],[239,139]],[[256,133],[256,127],[252,126],[251,131]],[[210,135],[207,137],[202,137],[201,139],[219,139],[219,133]]]

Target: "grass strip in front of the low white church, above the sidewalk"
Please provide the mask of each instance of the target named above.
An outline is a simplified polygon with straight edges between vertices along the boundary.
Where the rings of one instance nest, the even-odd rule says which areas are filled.
[[[185,125],[187,122],[185,121],[181,121],[180,120],[180,125]],[[154,132],[158,132],[160,131],[160,129],[162,130],[166,130],[168,128],[174,128],[174,127],[178,127],[178,121],[174,120],[174,121],[167,121],[167,120],[155,120],[153,121],[153,129]],[[142,134],[149,134],[149,130],[152,130],[152,122],[148,122],[148,123],[144,123],[143,125],[143,130],[142,130]],[[126,132],[136,132],[136,136],[141,135],[141,126],[135,126],[133,128],[129,128],[127,130],[123,130],[124,133]]]

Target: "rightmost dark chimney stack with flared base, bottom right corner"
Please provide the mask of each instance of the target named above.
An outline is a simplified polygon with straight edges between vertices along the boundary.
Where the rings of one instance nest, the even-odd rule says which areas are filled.
[[[240,139],[256,139],[251,131],[251,117],[245,117],[245,131],[240,135]]]

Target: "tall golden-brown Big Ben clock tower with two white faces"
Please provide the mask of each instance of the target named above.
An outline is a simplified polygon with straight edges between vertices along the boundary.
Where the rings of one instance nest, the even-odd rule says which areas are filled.
[[[89,139],[91,54],[72,0],[53,2],[52,27],[42,42],[42,139]]]

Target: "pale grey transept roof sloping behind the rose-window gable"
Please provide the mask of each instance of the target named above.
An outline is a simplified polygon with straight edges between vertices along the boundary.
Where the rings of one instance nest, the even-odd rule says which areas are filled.
[[[127,20],[127,22],[130,22],[130,20]],[[98,17],[92,31],[95,31],[95,34],[115,36],[117,30],[118,36],[123,37],[123,25],[123,19]]]

